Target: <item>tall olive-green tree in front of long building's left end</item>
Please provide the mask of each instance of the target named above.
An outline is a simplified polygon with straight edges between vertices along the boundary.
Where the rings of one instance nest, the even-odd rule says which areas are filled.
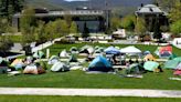
[[[20,28],[21,33],[23,35],[22,43],[23,45],[31,43],[34,41],[34,10],[32,8],[26,8],[23,10],[22,16],[20,18]]]

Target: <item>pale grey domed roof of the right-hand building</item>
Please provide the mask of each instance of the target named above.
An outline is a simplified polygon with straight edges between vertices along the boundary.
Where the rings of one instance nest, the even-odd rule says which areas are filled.
[[[146,4],[136,11],[136,13],[159,13],[159,14],[166,14],[164,11],[162,11],[159,7],[155,4]]]

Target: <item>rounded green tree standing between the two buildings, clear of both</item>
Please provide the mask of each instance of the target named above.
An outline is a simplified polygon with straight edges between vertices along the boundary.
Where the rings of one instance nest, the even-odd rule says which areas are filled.
[[[121,20],[121,27],[129,31],[134,31],[135,29],[136,17],[135,16],[127,16]]]

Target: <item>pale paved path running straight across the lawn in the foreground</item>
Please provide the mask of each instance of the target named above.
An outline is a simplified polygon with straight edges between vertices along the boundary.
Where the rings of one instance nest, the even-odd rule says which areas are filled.
[[[0,94],[19,95],[79,95],[79,96],[147,96],[181,98],[181,91],[136,90],[136,89],[44,89],[44,88],[0,88]]]

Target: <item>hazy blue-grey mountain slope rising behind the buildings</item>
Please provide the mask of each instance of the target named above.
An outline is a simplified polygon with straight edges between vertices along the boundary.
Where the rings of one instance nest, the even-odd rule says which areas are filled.
[[[68,0],[68,2],[65,0],[26,0],[29,6],[47,9],[75,9],[79,7],[105,9],[106,1],[108,9],[111,9],[117,14],[125,16],[134,13],[141,3],[152,3],[153,0]]]

